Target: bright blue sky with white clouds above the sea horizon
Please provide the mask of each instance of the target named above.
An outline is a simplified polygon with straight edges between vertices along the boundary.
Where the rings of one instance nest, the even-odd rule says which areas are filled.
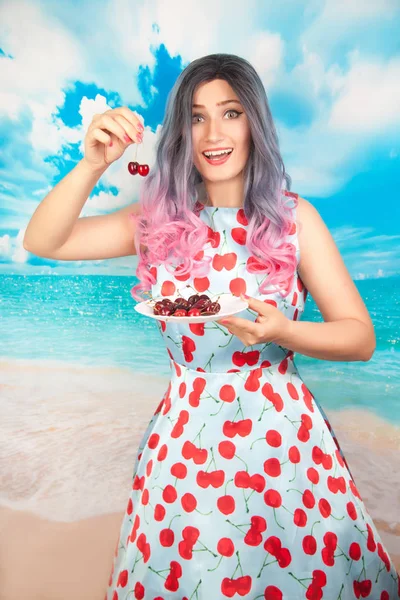
[[[354,280],[400,274],[400,0],[0,0],[0,273],[135,273],[137,257],[53,261],[23,248],[38,204],[83,157],[96,113],[128,106],[151,165],[179,73],[217,52],[257,69],[292,191]],[[138,199],[134,148],[80,216]]]

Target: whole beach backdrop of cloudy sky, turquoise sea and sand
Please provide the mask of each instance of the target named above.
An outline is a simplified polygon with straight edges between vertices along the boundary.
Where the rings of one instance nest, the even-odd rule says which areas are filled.
[[[170,374],[155,321],[134,310],[136,257],[41,258],[26,226],[95,113],[137,112],[152,168],[170,89],[213,52],[260,73],[292,191],[319,210],[373,320],[370,361],[295,363],[400,569],[399,26],[396,0],[0,3],[0,600],[103,600]],[[137,200],[135,150],[82,217]],[[322,320],[310,295],[302,319]]]

